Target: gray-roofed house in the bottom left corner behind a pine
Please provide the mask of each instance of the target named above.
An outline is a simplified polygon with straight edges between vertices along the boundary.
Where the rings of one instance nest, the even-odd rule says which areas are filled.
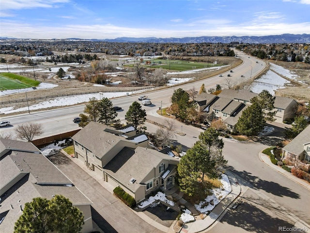
[[[68,198],[84,215],[82,233],[93,232],[90,201],[32,143],[0,139],[0,232],[14,232],[25,203],[33,198]]]

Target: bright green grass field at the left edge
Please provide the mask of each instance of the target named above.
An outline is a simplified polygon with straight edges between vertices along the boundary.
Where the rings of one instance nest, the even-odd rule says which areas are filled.
[[[33,86],[38,86],[39,81],[34,81],[32,79],[13,74],[13,73],[1,73],[0,74],[0,90],[13,90],[29,88]]]

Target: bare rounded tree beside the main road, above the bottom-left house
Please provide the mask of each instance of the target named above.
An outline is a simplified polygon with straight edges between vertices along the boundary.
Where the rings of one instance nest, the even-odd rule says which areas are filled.
[[[31,142],[33,137],[41,135],[43,130],[41,124],[30,122],[18,125],[15,132],[17,138]]]

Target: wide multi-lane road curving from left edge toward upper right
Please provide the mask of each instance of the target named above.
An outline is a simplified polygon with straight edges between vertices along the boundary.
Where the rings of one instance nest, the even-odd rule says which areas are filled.
[[[254,57],[248,58],[248,56],[244,55],[243,52],[238,51],[238,57],[243,59],[243,64],[239,67],[235,67],[233,69],[233,73],[225,72],[223,73],[223,77],[212,77],[206,80],[198,81],[195,83],[189,83],[180,85],[177,88],[183,88],[184,90],[189,90],[192,87],[195,87],[196,90],[199,90],[202,83],[205,84],[205,88],[208,90],[209,88],[215,88],[217,84],[221,86],[225,86],[227,83],[225,79],[227,79],[227,74],[232,74],[232,82],[240,83],[242,81],[248,80],[250,77],[254,77],[258,73],[260,73],[265,64]],[[256,63],[259,62],[259,63]],[[261,66],[263,64],[263,66]],[[241,78],[241,75],[244,75],[244,78]],[[188,74],[188,77],[192,77],[193,74]],[[158,107],[168,107],[171,105],[171,95],[173,93],[173,87],[154,91],[147,93],[147,96],[152,100],[152,105],[142,106],[143,109],[146,110],[147,115],[156,115],[156,110]],[[118,118],[121,121],[124,121],[125,113],[127,112],[129,106],[133,101],[139,101],[138,96],[127,96],[123,98],[118,98],[111,100],[114,106],[120,106],[123,108],[123,111],[118,112]],[[74,123],[72,119],[77,117],[80,113],[83,112],[85,105],[72,106],[69,108],[55,109],[50,111],[36,111],[31,114],[22,114],[16,116],[0,116],[1,120],[9,120],[13,126],[12,127],[2,127],[0,129],[0,133],[13,133],[14,129],[18,124],[26,123],[26,122],[37,122],[43,124],[43,134],[40,137],[35,137],[34,139],[55,135],[58,133],[65,133],[71,130],[78,129],[78,124]]]

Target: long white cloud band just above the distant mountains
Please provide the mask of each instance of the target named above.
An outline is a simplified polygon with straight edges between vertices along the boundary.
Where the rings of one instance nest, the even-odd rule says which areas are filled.
[[[255,23],[232,25],[222,22],[204,21],[208,27],[202,27],[203,20],[199,21],[200,27],[194,28],[195,24],[182,25],[179,30],[157,29],[157,28],[127,28],[112,24],[93,25],[61,25],[59,27],[40,26],[26,24],[21,21],[1,21],[1,36],[16,38],[50,39],[50,38],[71,38],[82,39],[114,39],[116,37],[186,37],[190,36],[241,36],[241,35],[276,35],[283,33],[302,34],[310,32],[310,22],[305,23]],[[216,24],[219,23],[219,24]],[[186,28],[187,26],[187,28]],[[46,33],[48,32],[48,33]],[[30,37],[31,36],[31,37]]]

